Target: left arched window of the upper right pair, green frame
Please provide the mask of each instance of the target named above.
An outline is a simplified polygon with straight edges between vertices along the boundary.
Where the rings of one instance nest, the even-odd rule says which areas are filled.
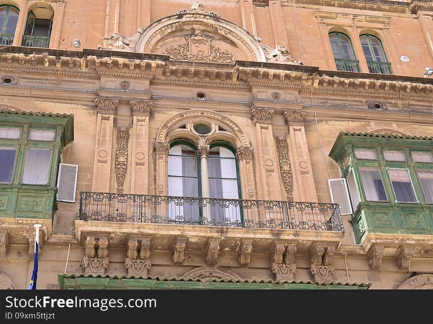
[[[338,71],[359,72],[359,62],[353,51],[352,42],[347,35],[334,32],[329,34],[335,64]]]

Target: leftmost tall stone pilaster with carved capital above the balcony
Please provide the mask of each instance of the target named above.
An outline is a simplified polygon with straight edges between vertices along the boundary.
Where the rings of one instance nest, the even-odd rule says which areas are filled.
[[[110,191],[111,156],[113,149],[114,112],[119,105],[117,98],[95,98],[98,111],[95,155],[93,162],[93,192]]]

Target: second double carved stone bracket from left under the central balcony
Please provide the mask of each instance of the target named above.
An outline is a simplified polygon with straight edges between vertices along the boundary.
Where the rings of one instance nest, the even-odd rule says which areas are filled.
[[[148,275],[152,267],[150,248],[152,237],[130,237],[128,239],[128,252],[125,258],[125,268],[128,275]]]

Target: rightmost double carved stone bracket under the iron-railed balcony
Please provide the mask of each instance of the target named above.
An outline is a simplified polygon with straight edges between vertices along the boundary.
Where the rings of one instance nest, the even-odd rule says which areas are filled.
[[[315,280],[333,280],[335,266],[332,264],[335,254],[335,246],[313,243],[309,257],[311,259],[310,272]]]

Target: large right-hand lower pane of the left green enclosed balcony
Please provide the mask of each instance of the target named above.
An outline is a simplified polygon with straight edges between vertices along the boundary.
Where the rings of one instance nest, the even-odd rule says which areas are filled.
[[[46,184],[50,172],[51,150],[29,148],[24,165],[23,183]]]

